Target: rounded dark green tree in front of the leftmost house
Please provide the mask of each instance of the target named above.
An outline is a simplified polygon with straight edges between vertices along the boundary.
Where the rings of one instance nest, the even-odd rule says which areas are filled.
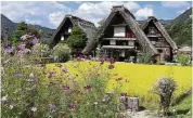
[[[86,34],[82,29],[75,26],[72,29],[72,35],[68,37],[66,43],[72,48],[72,50],[83,49],[86,47]]]

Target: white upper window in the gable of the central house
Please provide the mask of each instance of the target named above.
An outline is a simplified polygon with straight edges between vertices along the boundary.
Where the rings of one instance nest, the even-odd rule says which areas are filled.
[[[114,27],[114,37],[126,37],[126,27]]]

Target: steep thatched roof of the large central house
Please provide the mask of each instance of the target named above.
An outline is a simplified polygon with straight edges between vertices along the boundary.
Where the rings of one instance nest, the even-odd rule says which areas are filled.
[[[126,24],[130,27],[132,32],[136,35],[139,43],[143,45],[143,51],[151,52],[152,54],[158,54],[157,50],[150,42],[149,38],[145,36],[143,30],[139,27],[134,16],[126,9],[124,5],[113,6],[111,14],[106,18],[103,26],[97,31],[93,39],[88,42],[87,47],[83,49],[82,53],[88,54],[94,48],[95,43],[103,37],[104,30],[110,25],[111,21],[116,14],[120,14],[125,19]]]

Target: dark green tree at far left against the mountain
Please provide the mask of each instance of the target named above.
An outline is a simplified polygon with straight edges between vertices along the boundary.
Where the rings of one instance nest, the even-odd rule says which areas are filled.
[[[21,22],[17,25],[16,30],[12,35],[13,44],[18,44],[18,39],[27,32],[27,24],[25,22]]]

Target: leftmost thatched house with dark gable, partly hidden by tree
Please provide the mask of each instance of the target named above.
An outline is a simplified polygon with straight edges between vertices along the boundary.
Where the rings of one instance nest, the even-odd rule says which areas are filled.
[[[56,31],[51,38],[52,47],[59,43],[60,40],[66,40],[69,37],[72,28],[74,26],[78,26],[79,28],[81,28],[87,35],[88,40],[92,38],[93,34],[97,30],[93,23],[79,18],[77,16],[67,14],[65,15],[64,19],[62,21],[62,23],[60,24]]]

